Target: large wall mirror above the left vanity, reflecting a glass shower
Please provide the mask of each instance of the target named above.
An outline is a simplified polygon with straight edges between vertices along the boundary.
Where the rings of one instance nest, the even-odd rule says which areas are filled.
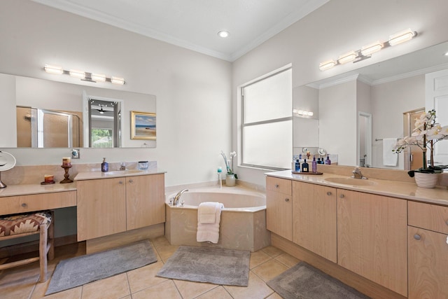
[[[155,148],[131,138],[131,111],[155,113],[155,95],[0,74],[2,148]]]

